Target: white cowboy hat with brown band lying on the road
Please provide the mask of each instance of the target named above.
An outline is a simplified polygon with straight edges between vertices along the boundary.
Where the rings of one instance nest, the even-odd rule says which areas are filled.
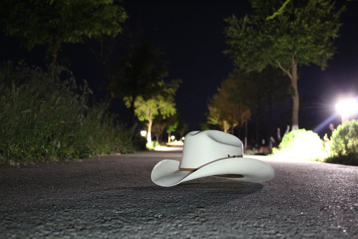
[[[165,159],[151,174],[159,186],[170,187],[195,178],[215,176],[237,181],[262,182],[275,176],[258,159],[243,158],[241,140],[218,130],[193,131],[184,139],[182,161]]]

